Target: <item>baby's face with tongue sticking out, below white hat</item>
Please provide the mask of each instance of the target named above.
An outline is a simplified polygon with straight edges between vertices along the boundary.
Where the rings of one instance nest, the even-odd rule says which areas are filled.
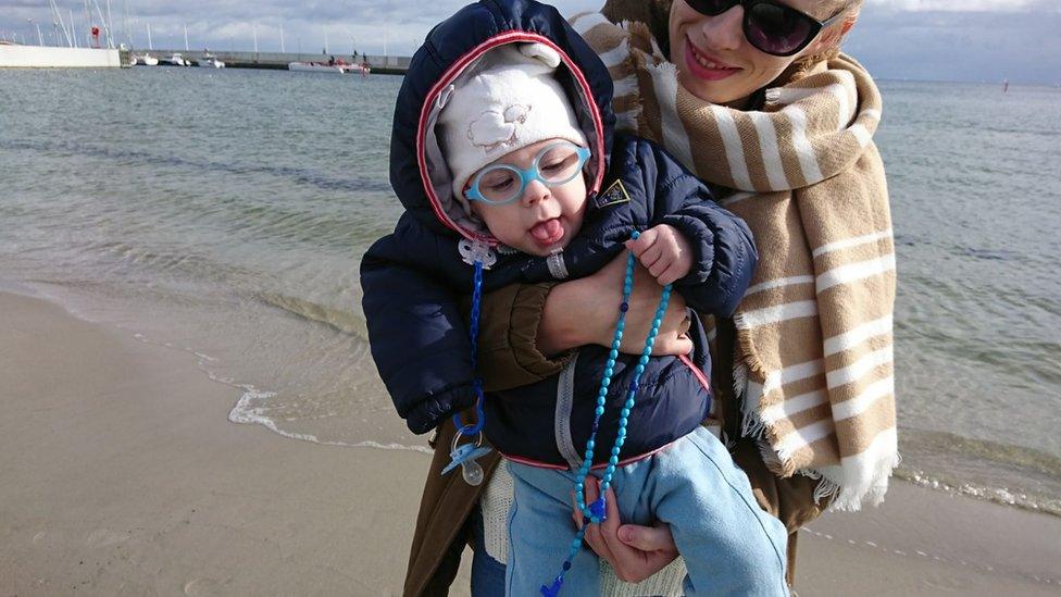
[[[558,140],[546,139],[519,149],[483,170],[497,164],[527,170],[542,149]],[[563,154],[554,156],[556,153],[558,152],[547,152],[539,160],[538,171],[544,177],[550,175],[550,169],[554,171],[564,167],[564,163],[560,162]],[[469,184],[476,179],[479,172],[472,175]],[[484,192],[488,192],[490,185],[497,184],[496,179],[491,181],[491,174],[487,173],[479,179],[479,188]],[[519,178],[515,184],[519,185]],[[501,242],[528,254],[548,256],[566,247],[582,228],[586,213],[586,181],[581,172],[571,181],[553,186],[546,186],[537,179],[530,181],[514,201],[504,204],[472,201],[471,204],[472,211],[483,219],[490,234]]]

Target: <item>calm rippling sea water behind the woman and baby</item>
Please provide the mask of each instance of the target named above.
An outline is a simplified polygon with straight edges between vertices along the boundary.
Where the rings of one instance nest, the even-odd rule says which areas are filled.
[[[425,450],[369,355],[401,78],[0,71],[0,281],[241,388],[234,422]],[[1061,89],[882,82],[899,475],[1061,515]]]

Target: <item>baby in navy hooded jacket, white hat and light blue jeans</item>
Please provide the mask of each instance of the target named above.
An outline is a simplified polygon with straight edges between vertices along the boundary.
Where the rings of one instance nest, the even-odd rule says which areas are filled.
[[[486,5],[510,26],[477,27]],[[699,181],[649,141],[612,138],[611,83],[577,35],[513,27],[509,5],[462,10],[414,57],[391,145],[391,183],[409,211],[362,262],[373,358],[419,433],[476,399],[459,295],[589,275],[628,249],[696,311],[728,314],[756,264],[747,226]],[[480,39],[440,51],[455,29]],[[626,309],[601,308],[616,320]],[[687,595],[787,595],[784,526],[700,425],[710,359],[690,315],[687,356],[586,346],[559,375],[486,394],[484,432],[515,484],[508,595],[599,594],[596,555],[573,543],[571,523],[587,470],[611,475],[623,522],[670,525]]]

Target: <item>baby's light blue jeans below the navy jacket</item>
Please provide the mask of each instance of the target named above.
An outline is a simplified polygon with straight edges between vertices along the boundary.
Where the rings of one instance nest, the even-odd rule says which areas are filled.
[[[539,587],[560,573],[575,537],[576,472],[507,464],[515,496],[505,595],[539,597]],[[616,468],[612,487],[623,523],[670,525],[688,570],[685,595],[788,595],[785,525],[759,507],[747,475],[708,430],[698,427],[651,457]],[[585,543],[560,594],[600,594],[597,555]]]

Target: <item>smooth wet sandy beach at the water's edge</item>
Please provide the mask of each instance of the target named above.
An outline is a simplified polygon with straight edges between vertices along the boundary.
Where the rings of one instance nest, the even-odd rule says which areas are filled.
[[[426,453],[229,422],[242,390],[194,353],[40,297],[0,290],[0,594],[400,594]],[[801,533],[796,589],[1058,595],[1058,537],[1057,517],[894,481]]]

